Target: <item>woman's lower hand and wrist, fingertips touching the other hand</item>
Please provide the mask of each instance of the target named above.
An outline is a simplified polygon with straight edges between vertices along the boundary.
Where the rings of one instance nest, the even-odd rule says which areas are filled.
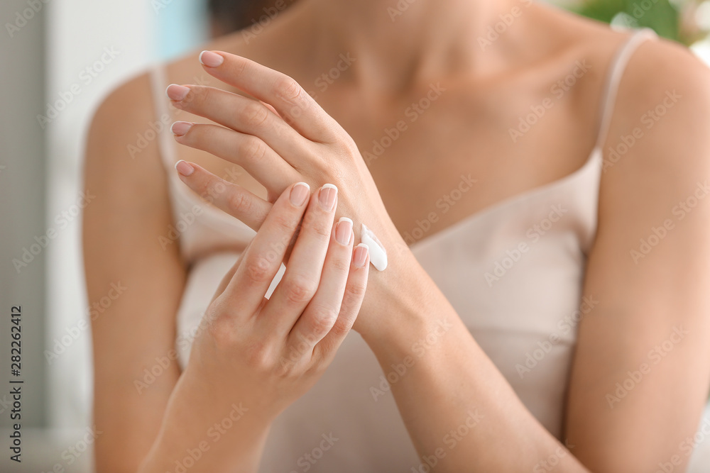
[[[334,225],[336,207],[328,184],[312,196],[307,184],[294,184],[275,201],[200,323],[142,472],[173,471],[203,442],[190,472],[258,467],[269,425],[319,379],[365,294],[367,247],[353,251],[352,224]],[[291,243],[283,278],[266,299]],[[210,432],[218,425],[224,433]]]

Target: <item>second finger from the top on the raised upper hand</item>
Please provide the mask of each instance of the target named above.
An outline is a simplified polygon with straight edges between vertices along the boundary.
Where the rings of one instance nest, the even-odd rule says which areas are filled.
[[[165,93],[176,108],[261,138],[283,157],[305,152],[306,140],[258,100],[200,85],[171,84]]]

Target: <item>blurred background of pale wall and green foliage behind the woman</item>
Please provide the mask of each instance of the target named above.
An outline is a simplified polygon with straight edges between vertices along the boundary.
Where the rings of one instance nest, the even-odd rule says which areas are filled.
[[[618,28],[653,28],[710,62],[710,1],[554,3]],[[94,109],[152,62],[197,52],[212,28],[228,33],[263,11],[241,15],[243,23],[215,26],[207,0],[0,2],[2,472],[91,471],[97,434],[90,417],[88,321],[95,308],[84,292],[79,213],[90,199],[80,183]],[[21,464],[11,462],[7,450],[12,306],[21,306],[22,314],[22,369],[13,378],[23,380]],[[710,471],[710,458],[694,457],[691,470]]]

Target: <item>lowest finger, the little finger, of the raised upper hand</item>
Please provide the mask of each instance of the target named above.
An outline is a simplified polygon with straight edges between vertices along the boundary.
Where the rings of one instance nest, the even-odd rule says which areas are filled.
[[[175,163],[180,180],[202,199],[229,215],[258,230],[271,210],[272,204],[252,194],[238,184],[217,177],[194,162],[180,160]]]

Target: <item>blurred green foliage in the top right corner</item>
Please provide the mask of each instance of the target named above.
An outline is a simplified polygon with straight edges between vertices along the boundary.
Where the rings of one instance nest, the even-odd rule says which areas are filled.
[[[706,31],[694,22],[700,1],[585,0],[575,11],[599,21],[628,28],[652,28],[658,35],[690,45],[704,38]]]

